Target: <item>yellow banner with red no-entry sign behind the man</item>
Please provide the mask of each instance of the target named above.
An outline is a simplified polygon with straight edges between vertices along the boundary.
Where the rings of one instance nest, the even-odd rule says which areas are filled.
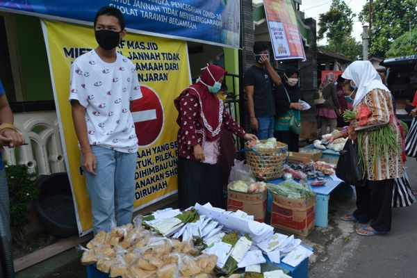
[[[92,215],[68,101],[70,67],[75,58],[97,47],[97,42],[91,27],[44,21],[42,28],[81,236],[92,229]],[[178,125],[174,99],[190,84],[188,54],[186,42],[138,34],[126,35],[117,51],[136,65],[143,94],[132,106],[140,145],[134,197],[138,210],[177,192]]]

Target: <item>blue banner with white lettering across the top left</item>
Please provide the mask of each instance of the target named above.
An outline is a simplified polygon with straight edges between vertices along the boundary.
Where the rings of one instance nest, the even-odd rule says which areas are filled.
[[[239,47],[240,0],[0,0],[0,10],[82,24],[103,6],[118,8],[133,33]]]

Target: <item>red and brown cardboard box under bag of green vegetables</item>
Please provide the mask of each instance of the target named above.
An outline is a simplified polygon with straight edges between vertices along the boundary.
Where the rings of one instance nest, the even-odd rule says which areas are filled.
[[[314,229],[316,198],[292,199],[272,193],[271,226],[300,236]]]

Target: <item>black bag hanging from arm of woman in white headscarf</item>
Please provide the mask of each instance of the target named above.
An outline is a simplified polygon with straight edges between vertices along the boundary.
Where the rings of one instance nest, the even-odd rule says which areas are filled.
[[[358,146],[347,139],[336,166],[336,176],[351,186],[364,186],[364,175],[359,159]]]

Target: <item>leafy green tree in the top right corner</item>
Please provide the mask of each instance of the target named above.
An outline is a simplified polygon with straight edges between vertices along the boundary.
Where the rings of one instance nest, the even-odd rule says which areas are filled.
[[[417,0],[374,0],[370,53],[385,57],[393,40],[417,24]],[[369,3],[363,6],[359,20],[369,22]]]

